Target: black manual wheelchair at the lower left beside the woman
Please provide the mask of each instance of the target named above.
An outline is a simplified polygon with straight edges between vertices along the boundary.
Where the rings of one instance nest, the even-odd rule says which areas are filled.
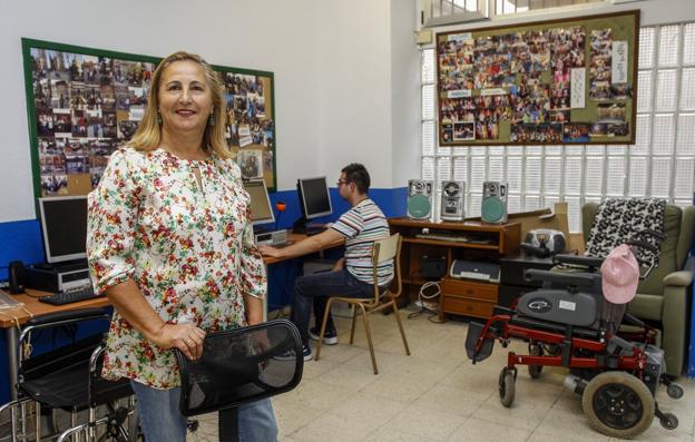
[[[0,406],[0,413],[6,410],[11,413],[12,442],[18,438],[40,440],[37,434],[58,435],[60,442],[79,433],[88,441],[96,441],[98,435],[100,439],[135,441],[138,426],[129,380],[107,381],[100,376],[104,334],[94,334],[37,356],[26,355],[22,351],[29,345],[33,332],[95,320],[109,322],[110,314],[104,308],[86,308],[40,316],[26,324],[19,337],[18,399]],[[124,402],[127,403],[125,406],[121,405]],[[27,411],[31,404],[35,406],[33,431],[29,429]],[[106,410],[100,418],[99,406]],[[42,407],[69,412],[70,428],[62,433],[49,428],[51,434],[42,435]],[[78,424],[81,411],[87,411],[87,421]],[[102,424],[106,424],[106,431],[98,432],[97,428]]]

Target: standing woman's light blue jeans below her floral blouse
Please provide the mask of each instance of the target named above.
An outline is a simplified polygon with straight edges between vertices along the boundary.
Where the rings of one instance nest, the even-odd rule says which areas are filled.
[[[147,442],[185,442],[187,418],[178,411],[180,389],[157,390],[136,381],[140,426]],[[238,410],[239,442],[274,442],[277,424],[270,399],[242,405]]]

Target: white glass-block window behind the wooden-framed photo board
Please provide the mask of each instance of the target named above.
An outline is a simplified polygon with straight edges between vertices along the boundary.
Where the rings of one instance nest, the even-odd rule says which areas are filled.
[[[509,213],[569,206],[569,228],[581,230],[580,207],[604,197],[654,196],[681,206],[695,188],[695,23],[639,32],[635,145],[440,147],[437,138],[435,51],[421,51],[421,177],[466,181],[466,216],[480,216],[482,181],[509,183]]]

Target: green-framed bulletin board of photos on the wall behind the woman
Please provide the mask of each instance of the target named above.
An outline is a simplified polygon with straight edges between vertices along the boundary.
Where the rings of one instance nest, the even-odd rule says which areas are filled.
[[[22,39],[37,197],[86,195],[143,118],[156,57]],[[213,66],[225,86],[226,138],[245,178],[274,190],[273,72]]]

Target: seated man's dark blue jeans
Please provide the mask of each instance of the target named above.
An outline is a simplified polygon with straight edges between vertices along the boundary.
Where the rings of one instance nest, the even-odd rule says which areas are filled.
[[[344,268],[342,271],[315,273],[296,278],[290,320],[300,330],[302,343],[305,346],[309,346],[309,320],[312,305],[314,307],[316,327],[320,327],[329,297],[332,296],[373,297],[374,286],[355,278]],[[335,330],[335,325],[329,312],[326,331],[332,330]]]

